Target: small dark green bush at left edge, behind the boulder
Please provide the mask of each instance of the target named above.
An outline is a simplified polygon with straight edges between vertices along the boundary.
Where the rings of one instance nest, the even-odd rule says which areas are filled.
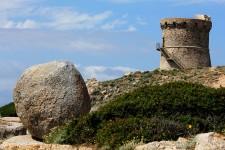
[[[0,108],[1,117],[17,117],[14,103],[9,103]]]

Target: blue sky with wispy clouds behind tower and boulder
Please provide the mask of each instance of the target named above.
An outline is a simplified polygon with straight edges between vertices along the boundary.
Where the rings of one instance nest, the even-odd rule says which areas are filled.
[[[225,0],[0,0],[0,105],[34,64],[69,60],[98,80],[153,70],[160,19],[195,14],[212,17],[212,64],[224,65]]]

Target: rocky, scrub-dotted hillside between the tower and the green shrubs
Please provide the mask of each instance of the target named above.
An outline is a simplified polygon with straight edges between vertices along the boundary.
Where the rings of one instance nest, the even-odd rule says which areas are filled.
[[[123,77],[110,81],[86,81],[92,99],[92,111],[106,104],[118,95],[128,93],[136,88],[146,85],[161,85],[174,81],[200,83],[205,86],[219,88],[225,87],[225,67],[211,67],[201,69],[159,70],[130,72]]]

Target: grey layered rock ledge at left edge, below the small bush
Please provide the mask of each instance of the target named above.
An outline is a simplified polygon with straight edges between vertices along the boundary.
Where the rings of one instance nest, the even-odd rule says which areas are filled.
[[[17,117],[0,118],[0,139],[12,136],[25,135],[26,128]]]

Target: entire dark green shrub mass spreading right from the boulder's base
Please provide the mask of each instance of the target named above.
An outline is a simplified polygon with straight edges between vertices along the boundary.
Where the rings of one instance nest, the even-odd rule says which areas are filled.
[[[185,82],[146,86],[53,130],[45,141],[96,143],[117,149],[133,138],[142,137],[144,142],[150,142],[222,131],[224,108],[223,88],[212,89]]]

